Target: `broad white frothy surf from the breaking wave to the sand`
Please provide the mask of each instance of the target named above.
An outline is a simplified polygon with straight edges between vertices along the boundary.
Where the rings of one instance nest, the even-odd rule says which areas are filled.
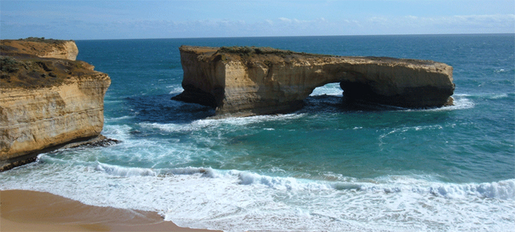
[[[0,188],[157,211],[181,226],[225,231],[505,231],[515,223],[510,217],[515,213],[515,179],[464,184],[416,176],[316,181],[209,167],[150,169],[45,159],[30,175],[16,173],[23,169],[0,174]]]

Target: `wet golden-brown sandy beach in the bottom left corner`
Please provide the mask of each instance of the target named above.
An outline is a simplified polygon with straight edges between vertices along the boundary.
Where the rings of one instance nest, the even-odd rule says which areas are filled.
[[[211,231],[178,227],[156,212],[95,207],[30,190],[1,190],[0,218],[0,231]]]

